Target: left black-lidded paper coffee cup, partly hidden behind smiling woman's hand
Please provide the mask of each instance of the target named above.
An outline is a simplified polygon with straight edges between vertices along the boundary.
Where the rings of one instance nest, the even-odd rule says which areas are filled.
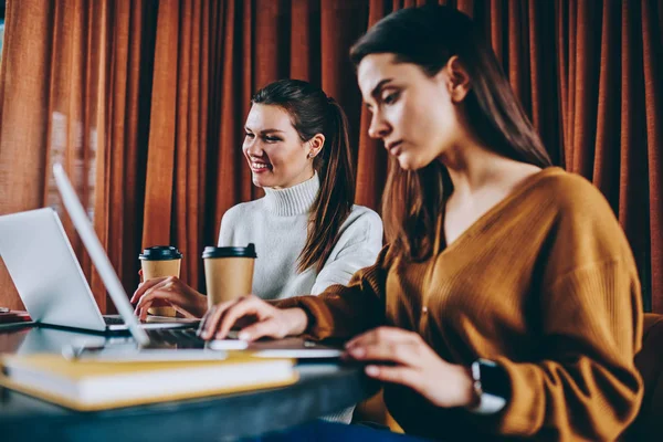
[[[177,276],[179,277],[182,254],[171,245],[156,245],[148,248],[138,255],[140,269],[143,269],[143,281],[155,277]],[[156,316],[176,316],[173,307],[165,301],[156,301],[147,313]]]

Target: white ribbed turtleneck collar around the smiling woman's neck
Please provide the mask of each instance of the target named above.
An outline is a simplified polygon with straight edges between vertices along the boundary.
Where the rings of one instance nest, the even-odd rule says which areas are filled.
[[[264,188],[267,210],[280,217],[308,213],[319,188],[317,172],[313,178],[286,189]]]

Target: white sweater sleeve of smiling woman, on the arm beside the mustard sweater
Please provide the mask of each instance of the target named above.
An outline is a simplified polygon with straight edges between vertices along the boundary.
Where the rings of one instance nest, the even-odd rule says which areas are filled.
[[[334,284],[346,285],[359,269],[368,267],[376,262],[382,249],[380,217],[372,210],[366,210],[344,227],[336,248],[338,250],[333,251],[318,273],[311,290],[312,295],[318,295]]]

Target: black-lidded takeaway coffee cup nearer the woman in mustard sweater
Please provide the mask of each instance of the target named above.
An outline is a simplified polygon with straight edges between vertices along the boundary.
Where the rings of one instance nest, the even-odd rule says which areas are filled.
[[[204,248],[202,261],[208,308],[251,293],[256,257],[253,243],[245,248]]]

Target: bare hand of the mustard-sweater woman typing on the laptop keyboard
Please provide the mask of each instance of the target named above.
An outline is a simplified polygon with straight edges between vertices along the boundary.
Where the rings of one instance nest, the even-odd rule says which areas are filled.
[[[255,340],[262,337],[283,338],[301,335],[308,325],[302,308],[277,308],[255,295],[241,296],[212,306],[200,323],[203,339],[224,339],[230,329],[242,327],[238,337]]]

